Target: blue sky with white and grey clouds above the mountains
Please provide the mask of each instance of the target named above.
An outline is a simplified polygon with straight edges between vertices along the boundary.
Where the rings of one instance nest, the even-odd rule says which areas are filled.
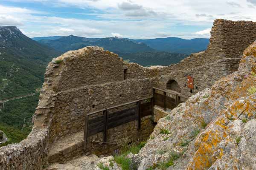
[[[256,21],[256,0],[0,0],[28,37],[209,38],[218,18]]]

